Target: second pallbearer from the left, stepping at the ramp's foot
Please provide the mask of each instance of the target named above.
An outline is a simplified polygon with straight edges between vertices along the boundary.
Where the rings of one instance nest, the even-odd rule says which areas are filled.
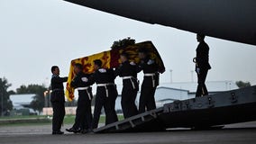
[[[117,97],[116,85],[114,84],[114,70],[102,67],[100,59],[94,60],[95,73],[90,77],[92,83],[96,83],[96,103],[93,118],[93,129],[98,126],[102,107],[105,110],[105,124],[118,121],[114,110]]]

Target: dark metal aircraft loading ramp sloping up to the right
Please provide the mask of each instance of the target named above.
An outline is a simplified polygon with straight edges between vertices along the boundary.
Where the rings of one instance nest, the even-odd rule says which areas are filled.
[[[256,86],[166,103],[123,121],[95,129],[96,133],[160,131],[169,128],[209,129],[256,120]]]

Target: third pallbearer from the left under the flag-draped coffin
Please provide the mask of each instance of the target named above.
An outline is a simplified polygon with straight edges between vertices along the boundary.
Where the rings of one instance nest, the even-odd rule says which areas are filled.
[[[137,82],[138,67],[133,61],[128,60],[129,55],[123,52],[120,55],[122,64],[115,69],[115,76],[121,76],[123,78],[123,89],[121,105],[123,110],[123,117],[128,118],[138,114],[138,109],[135,104],[139,85]]]

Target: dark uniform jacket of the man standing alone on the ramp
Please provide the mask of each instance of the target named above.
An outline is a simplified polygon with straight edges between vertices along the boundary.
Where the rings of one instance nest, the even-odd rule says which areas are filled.
[[[210,69],[211,66],[209,64],[209,47],[205,41],[200,42],[197,46],[197,67]]]

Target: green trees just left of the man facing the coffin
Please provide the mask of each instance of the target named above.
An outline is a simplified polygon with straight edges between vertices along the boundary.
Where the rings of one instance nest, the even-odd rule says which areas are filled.
[[[44,85],[21,85],[20,88],[17,88],[17,94],[36,94],[33,97],[30,107],[34,111],[41,112],[44,107],[44,92],[47,88]]]

